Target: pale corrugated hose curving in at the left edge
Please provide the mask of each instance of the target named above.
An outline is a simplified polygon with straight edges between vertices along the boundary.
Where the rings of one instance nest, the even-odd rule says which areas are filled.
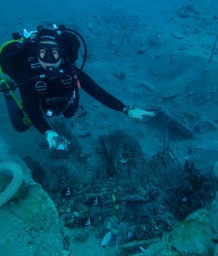
[[[0,162],[0,174],[12,176],[12,182],[0,193],[0,207],[7,203],[19,190],[23,182],[23,168],[17,163]]]

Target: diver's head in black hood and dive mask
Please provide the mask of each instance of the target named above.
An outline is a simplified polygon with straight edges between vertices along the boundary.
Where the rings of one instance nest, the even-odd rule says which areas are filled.
[[[41,29],[36,36],[36,55],[43,69],[57,68],[62,62],[60,36],[52,29]]]

